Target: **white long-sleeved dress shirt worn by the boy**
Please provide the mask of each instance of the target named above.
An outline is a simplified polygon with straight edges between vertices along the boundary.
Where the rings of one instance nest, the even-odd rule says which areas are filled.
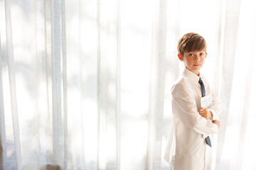
[[[210,94],[212,97],[212,106],[208,110],[213,113],[213,118],[206,120],[198,113],[201,109],[202,97],[199,78],[185,69],[171,89],[176,148],[175,156],[170,157],[171,141],[167,141],[165,159],[170,164],[174,164],[174,170],[203,170],[209,167],[207,165],[209,163],[206,162],[209,162],[210,157],[207,155],[211,152],[211,148],[206,145],[203,136],[211,136],[218,132],[218,126],[212,123],[212,120],[218,120],[221,108],[220,101],[210,91],[206,78],[201,76],[206,88],[206,96]]]

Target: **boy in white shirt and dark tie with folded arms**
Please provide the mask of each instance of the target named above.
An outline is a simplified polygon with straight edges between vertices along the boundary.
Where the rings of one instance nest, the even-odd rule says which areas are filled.
[[[167,161],[174,170],[208,170],[211,166],[210,139],[220,128],[220,102],[199,72],[206,55],[206,40],[201,35],[187,33],[178,41],[178,59],[185,69],[171,89],[176,148],[175,156]],[[171,145],[167,145],[166,155],[170,152]]]

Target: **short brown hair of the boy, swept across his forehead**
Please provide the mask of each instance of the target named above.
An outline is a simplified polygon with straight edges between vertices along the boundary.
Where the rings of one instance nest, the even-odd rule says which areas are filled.
[[[206,50],[206,40],[197,33],[186,33],[178,40],[178,53]]]

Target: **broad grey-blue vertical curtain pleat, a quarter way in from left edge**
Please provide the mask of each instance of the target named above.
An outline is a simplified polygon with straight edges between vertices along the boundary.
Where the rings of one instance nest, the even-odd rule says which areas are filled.
[[[63,164],[63,109],[62,109],[62,62],[61,62],[61,26],[60,1],[52,2],[51,20],[51,64],[52,64],[52,100],[53,100],[53,163]]]

